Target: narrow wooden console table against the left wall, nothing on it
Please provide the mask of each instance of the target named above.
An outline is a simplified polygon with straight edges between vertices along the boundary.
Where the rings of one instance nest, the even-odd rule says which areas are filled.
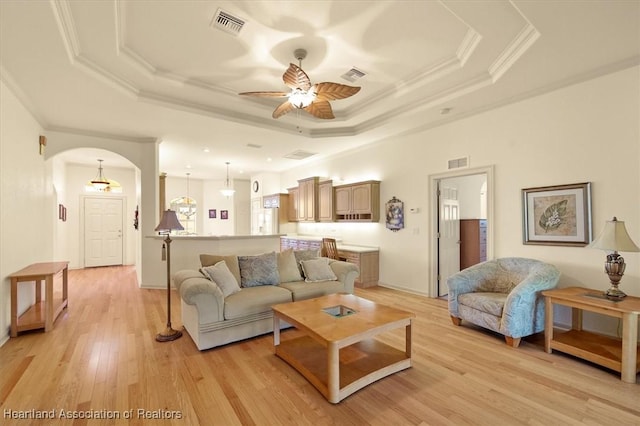
[[[9,275],[11,278],[11,337],[20,331],[53,328],[53,322],[67,307],[67,281],[69,262],[34,263]],[[62,271],[62,298],[53,295],[53,278]],[[42,300],[42,281],[45,282],[45,300]],[[18,283],[35,281],[36,301],[18,317]]]

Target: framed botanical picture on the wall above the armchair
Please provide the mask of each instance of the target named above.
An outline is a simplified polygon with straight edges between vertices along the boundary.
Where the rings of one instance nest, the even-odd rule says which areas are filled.
[[[591,183],[522,190],[523,243],[586,246],[591,242]]]

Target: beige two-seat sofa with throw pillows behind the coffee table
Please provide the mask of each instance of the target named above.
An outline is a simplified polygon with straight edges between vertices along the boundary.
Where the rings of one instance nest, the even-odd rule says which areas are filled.
[[[200,255],[199,271],[183,270],[174,275],[184,328],[199,350],[209,349],[272,332],[272,305],[353,293],[357,266],[318,255],[309,250],[260,256]],[[214,273],[217,282],[209,275],[212,269],[222,270],[221,278]],[[282,328],[288,326],[283,324]]]

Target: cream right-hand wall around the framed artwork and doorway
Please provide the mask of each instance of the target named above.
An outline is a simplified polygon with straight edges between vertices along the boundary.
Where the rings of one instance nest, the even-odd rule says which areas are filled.
[[[357,181],[371,178],[373,169],[382,181],[383,204],[396,196],[406,211],[421,211],[407,214],[400,232],[386,230],[383,222],[300,224],[298,232],[379,246],[381,282],[427,294],[429,175],[446,171],[448,159],[468,155],[472,167],[495,165],[496,257],[547,260],[562,270],[561,286],[604,289],[604,253],[522,244],[521,189],[592,182],[594,234],[616,215],[640,244],[638,73],[634,67],[285,173],[283,182],[313,175]],[[625,259],[622,287],[640,296],[640,255],[626,253]]]

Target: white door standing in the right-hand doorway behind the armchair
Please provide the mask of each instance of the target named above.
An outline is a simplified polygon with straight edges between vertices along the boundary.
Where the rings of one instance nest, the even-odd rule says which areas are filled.
[[[447,278],[460,271],[460,203],[458,190],[438,184],[438,297],[449,292]]]

